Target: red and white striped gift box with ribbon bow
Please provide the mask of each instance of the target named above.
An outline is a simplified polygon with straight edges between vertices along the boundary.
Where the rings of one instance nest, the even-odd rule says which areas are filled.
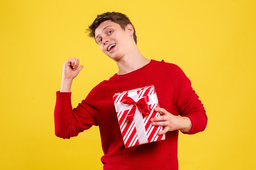
[[[165,139],[165,134],[157,135],[163,127],[152,126],[150,121],[160,116],[154,111],[159,104],[153,85],[115,93],[113,99],[126,148]]]

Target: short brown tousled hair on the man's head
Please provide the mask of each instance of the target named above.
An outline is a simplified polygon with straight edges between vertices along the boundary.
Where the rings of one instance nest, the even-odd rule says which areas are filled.
[[[92,24],[89,25],[88,29],[86,29],[86,32],[89,33],[88,36],[90,38],[95,38],[95,29],[97,29],[97,27],[102,22],[104,22],[106,20],[111,20],[112,22],[115,22],[115,23],[119,24],[123,30],[125,30],[125,27],[127,26],[127,24],[132,25],[132,22],[130,22],[130,19],[125,14],[119,13],[119,12],[106,12],[106,13],[102,13],[100,15],[97,15],[94,22],[92,22]],[[134,29],[133,39],[134,39],[135,43],[137,44],[137,36],[136,36],[136,33],[135,33],[134,26],[133,26],[133,29]]]

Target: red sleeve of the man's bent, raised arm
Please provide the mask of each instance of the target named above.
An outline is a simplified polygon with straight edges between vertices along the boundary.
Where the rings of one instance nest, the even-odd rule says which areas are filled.
[[[80,132],[89,129],[92,125],[97,126],[95,119],[96,97],[92,94],[76,107],[72,108],[71,93],[56,92],[56,105],[54,109],[55,135],[63,139],[77,136]]]

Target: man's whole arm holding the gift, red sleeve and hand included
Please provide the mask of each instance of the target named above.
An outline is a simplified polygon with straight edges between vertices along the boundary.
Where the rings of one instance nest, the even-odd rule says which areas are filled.
[[[151,119],[153,126],[164,126],[164,130],[158,134],[162,135],[168,131],[180,130],[185,134],[195,134],[205,129],[207,115],[198,95],[191,87],[191,81],[184,72],[175,64],[168,65],[170,75],[173,79],[175,99],[179,115],[172,115],[164,108],[155,108],[161,112],[161,116]]]

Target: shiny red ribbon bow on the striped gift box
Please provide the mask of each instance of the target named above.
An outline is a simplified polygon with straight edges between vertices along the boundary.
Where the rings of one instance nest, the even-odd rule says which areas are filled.
[[[138,109],[141,111],[142,114],[144,115],[148,115],[151,111],[151,108],[148,104],[146,104],[146,102],[149,101],[148,96],[142,97],[141,99],[139,99],[138,102],[135,102],[132,98],[130,97],[126,97],[124,100],[122,100],[123,104],[133,104],[132,109],[130,110],[130,112],[128,113],[126,119],[127,120],[133,120],[135,111],[136,111],[136,107],[138,107]]]

